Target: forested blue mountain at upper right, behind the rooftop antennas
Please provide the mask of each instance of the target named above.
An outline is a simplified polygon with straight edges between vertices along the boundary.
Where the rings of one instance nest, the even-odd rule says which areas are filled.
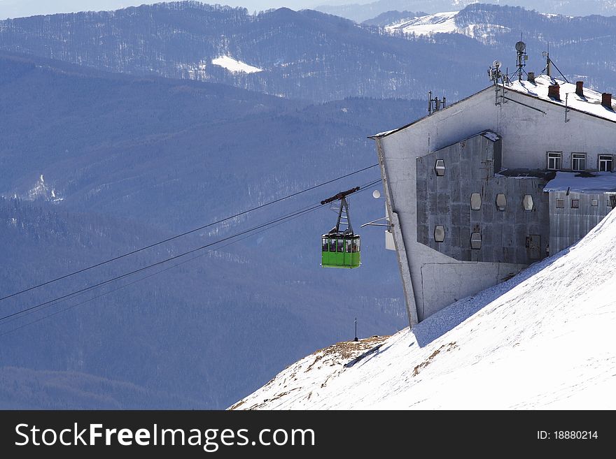
[[[458,46],[453,45],[456,37],[468,36],[486,47],[486,61],[491,54],[510,72],[515,66],[514,43],[522,38],[529,58],[526,71],[541,73],[546,65],[542,52],[549,49],[557,68],[569,80],[584,80],[601,92],[615,89],[615,69],[606,62],[615,57],[616,16],[568,17],[519,7],[472,4],[457,13],[454,21],[453,33],[423,38],[449,39],[452,51],[457,52]],[[401,24],[391,32],[402,34],[403,29],[405,25]],[[558,75],[556,68],[552,71]]]

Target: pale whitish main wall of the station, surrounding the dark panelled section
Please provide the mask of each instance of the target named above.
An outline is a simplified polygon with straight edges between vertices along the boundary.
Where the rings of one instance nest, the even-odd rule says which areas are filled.
[[[387,182],[385,197],[391,214],[395,214],[392,231],[399,263],[405,265],[400,272],[405,271],[402,283],[407,293],[409,323],[413,322],[411,309],[416,309],[416,320],[421,321],[454,300],[502,282],[526,266],[456,261],[418,242],[417,158],[486,130],[503,139],[503,168],[545,169],[548,151],[563,151],[565,164],[570,161],[570,152],[586,152],[588,166],[596,164],[592,155],[616,154],[614,123],[573,111],[565,123],[564,110],[557,105],[514,92],[506,95],[542,112],[513,101],[495,105],[494,90],[489,87],[403,129],[379,136],[379,163]]]

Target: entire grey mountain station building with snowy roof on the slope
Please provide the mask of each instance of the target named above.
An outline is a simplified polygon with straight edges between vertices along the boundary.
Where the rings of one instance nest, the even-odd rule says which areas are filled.
[[[615,207],[614,107],[583,82],[528,73],[371,137],[411,326],[570,247]]]

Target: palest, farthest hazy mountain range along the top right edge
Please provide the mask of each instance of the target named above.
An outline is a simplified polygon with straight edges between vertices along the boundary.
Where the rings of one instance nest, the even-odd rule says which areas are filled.
[[[468,5],[477,3],[475,0],[379,0],[372,3],[343,3],[337,5],[316,6],[314,9],[346,17],[347,19],[363,22],[381,13],[391,10],[426,11],[427,13],[441,13],[443,11],[458,11]],[[615,15],[616,1],[614,0],[483,0],[480,3],[499,6],[521,6],[541,13],[554,13],[561,15],[588,16],[588,15]]]

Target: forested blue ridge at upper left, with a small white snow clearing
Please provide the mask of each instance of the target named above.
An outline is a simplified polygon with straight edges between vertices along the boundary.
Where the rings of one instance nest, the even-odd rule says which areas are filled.
[[[409,41],[312,10],[250,15],[244,8],[193,1],[0,21],[3,50],[309,101],[423,99],[430,90],[455,87],[456,94],[468,94],[483,87],[475,76],[457,76],[473,75],[488,62],[482,45],[456,38],[455,46],[459,55],[452,56],[447,41]],[[211,63],[221,55],[263,71],[232,73]],[[453,65],[456,75],[448,71]]]

